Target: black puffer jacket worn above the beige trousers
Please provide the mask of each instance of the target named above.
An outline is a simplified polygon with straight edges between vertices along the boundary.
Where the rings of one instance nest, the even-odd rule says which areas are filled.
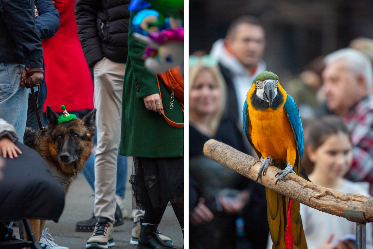
[[[131,1],[75,1],[79,40],[90,67],[106,57],[126,63]]]

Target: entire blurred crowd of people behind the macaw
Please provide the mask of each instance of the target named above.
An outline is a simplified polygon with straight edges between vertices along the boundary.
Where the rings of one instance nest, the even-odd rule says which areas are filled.
[[[256,156],[242,128],[266,33],[253,16],[231,23],[210,51],[189,56],[189,225],[191,248],[272,248],[264,187],[203,154],[210,138]],[[276,74],[276,72],[274,72]],[[372,39],[319,56],[289,82],[304,128],[303,166],[313,183],[372,196]],[[308,248],[354,248],[355,224],[301,204]],[[367,248],[372,247],[368,225]],[[350,236],[350,237],[349,237]]]

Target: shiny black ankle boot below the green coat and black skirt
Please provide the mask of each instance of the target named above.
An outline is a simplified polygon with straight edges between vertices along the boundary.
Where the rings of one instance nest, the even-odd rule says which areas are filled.
[[[142,218],[140,219],[140,236],[138,239],[138,248],[176,248],[175,246],[169,245],[157,234],[158,225],[142,225]]]

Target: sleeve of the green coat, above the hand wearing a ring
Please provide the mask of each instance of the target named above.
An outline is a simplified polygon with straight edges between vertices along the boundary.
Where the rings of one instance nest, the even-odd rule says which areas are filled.
[[[131,59],[132,70],[134,77],[137,80],[138,90],[136,97],[138,99],[149,94],[159,93],[156,75],[149,72],[144,66],[144,48],[145,44],[137,41],[132,35],[132,19],[137,12],[131,12],[129,17],[129,32],[128,32],[128,56]]]

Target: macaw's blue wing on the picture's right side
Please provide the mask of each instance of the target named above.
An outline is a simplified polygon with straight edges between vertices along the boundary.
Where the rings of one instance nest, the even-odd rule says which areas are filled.
[[[286,99],[285,105],[283,107],[285,109],[285,112],[288,115],[288,119],[291,124],[291,127],[293,128],[295,141],[297,141],[300,162],[302,162],[303,144],[304,144],[303,126],[302,126],[301,116],[299,115],[297,104],[295,103],[294,99],[289,94]]]

